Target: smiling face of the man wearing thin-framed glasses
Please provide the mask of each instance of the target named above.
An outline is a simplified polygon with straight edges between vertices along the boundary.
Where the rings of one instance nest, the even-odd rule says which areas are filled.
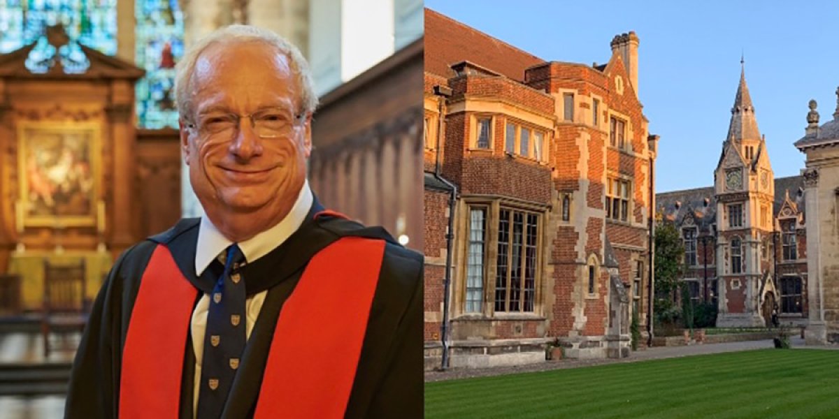
[[[232,212],[281,220],[303,186],[311,151],[310,115],[300,115],[288,57],[258,42],[213,44],[196,61],[191,84],[192,114],[181,116],[180,138],[201,205],[211,218]]]

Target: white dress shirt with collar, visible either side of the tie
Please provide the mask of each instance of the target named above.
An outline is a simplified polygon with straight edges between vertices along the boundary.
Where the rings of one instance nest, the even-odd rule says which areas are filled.
[[[253,262],[262,256],[273,251],[277,246],[283,244],[289,235],[294,233],[300,225],[303,224],[306,215],[309,213],[312,201],[311,189],[309,189],[309,181],[305,181],[303,188],[300,189],[300,194],[297,195],[297,200],[294,201],[294,206],[291,207],[289,215],[258,235],[254,235],[252,239],[238,243],[239,248],[245,255],[248,262]],[[210,266],[210,263],[219,257],[228,246],[233,242],[221,234],[212,224],[210,219],[204,215],[201,217],[201,226],[198,230],[198,243],[195,248],[195,274],[201,276],[201,272]],[[248,279],[245,278],[247,282]],[[249,339],[253,323],[256,323],[259,311],[262,309],[265,295],[268,291],[258,292],[257,294],[248,297],[245,301],[245,336]],[[192,400],[192,416],[195,417],[195,412],[198,411],[198,394],[201,389],[201,360],[204,357],[204,334],[207,323],[207,310],[210,307],[210,294],[204,294],[195,306],[192,312],[191,333],[192,333],[192,349],[195,351],[195,382]]]

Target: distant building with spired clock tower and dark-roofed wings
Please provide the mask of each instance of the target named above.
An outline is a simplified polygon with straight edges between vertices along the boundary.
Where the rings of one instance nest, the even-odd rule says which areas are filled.
[[[691,297],[717,303],[717,326],[805,325],[804,178],[774,178],[743,71],[714,186],[656,195],[685,243]],[[719,261],[720,263],[717,263]]]

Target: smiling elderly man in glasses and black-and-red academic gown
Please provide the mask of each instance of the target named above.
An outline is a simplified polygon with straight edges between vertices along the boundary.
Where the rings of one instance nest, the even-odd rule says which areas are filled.
[[[177,77],[206,215],[120,256],[66,416],[422,416],[421,256],[311,193],[317,99],[300,52],[232,26],[185,54]]]

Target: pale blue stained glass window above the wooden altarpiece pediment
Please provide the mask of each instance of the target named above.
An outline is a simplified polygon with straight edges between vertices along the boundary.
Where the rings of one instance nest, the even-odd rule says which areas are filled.
[[[44,28],[58,23],[69,42],[56,51]],[[44,73],[60,59],[66,73],[85,71],[90,63],[77,42],[117,53],[117,0],[0,0],[0,53],[36,43],[26,61],[29,70]]]

